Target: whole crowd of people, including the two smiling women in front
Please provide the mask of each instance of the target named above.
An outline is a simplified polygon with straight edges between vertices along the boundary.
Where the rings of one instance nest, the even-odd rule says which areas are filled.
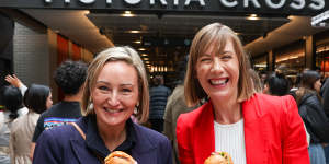
[[[149,85],[138,52],[111,47],[56,69],[55,105],[48,86],[7,75],[0,163],[104,163],[123,151],[139,164],[204,164],[213,152],[236,164],[329,164],[329,80],[318,71],[257,72],[220,23],[196,33],[178,70],[172,92],[161,74]]]

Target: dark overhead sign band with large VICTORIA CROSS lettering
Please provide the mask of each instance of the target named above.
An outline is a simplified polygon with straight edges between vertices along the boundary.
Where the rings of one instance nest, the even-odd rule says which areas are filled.
[[[328,0],[0,0],[0,8],[317,15]]]

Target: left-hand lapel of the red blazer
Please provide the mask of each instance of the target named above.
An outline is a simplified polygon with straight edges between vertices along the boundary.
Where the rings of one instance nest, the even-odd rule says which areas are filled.
[[[212,103],[203,106],[200,121],[195,127],[195,132],[192,134],[192,141],[195,147],[195,162],[203,164],[204,161],[215,151],[215,133],[214,133],[214,112]],[[194,139],[193,139],[194,138]]]

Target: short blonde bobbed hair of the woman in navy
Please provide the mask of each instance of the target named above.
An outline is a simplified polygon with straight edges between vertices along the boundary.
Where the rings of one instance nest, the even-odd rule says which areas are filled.
[[[149,113],[149,91],[148,80],[145,71],[144,63],[136,50],[131,47],[112,47],[101,51],[90,63],[88,74],[84,83],[82,95],[81,112],[83,116],[94,114],[93,109],[88,109],[91,104],[90,93],[95,85],[95,81],[109,61],[124,61],[133,66],[138,73],[138,93],[139,105],[137,106],[136,117],[139,122],[145,122],[148,119]]]

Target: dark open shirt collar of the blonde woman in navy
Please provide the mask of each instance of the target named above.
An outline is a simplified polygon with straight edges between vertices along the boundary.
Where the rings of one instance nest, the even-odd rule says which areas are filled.
[[[114,151],[124,151],[131,154],[132,149],[136,144],[136,131],[134,127],[134,122],[132,119],[126,121],[126,130],[127,130],[127,138],[126,140],[115,148]],[[95,152],[98,155],[102,157],[106,157],[111,151],[105,147],[104,141],[99,134],[99,130],[97,127],[97,119],[94,115],[88,116],[87,122],[87,134],[86,134],[86,142],[87,147]]]

